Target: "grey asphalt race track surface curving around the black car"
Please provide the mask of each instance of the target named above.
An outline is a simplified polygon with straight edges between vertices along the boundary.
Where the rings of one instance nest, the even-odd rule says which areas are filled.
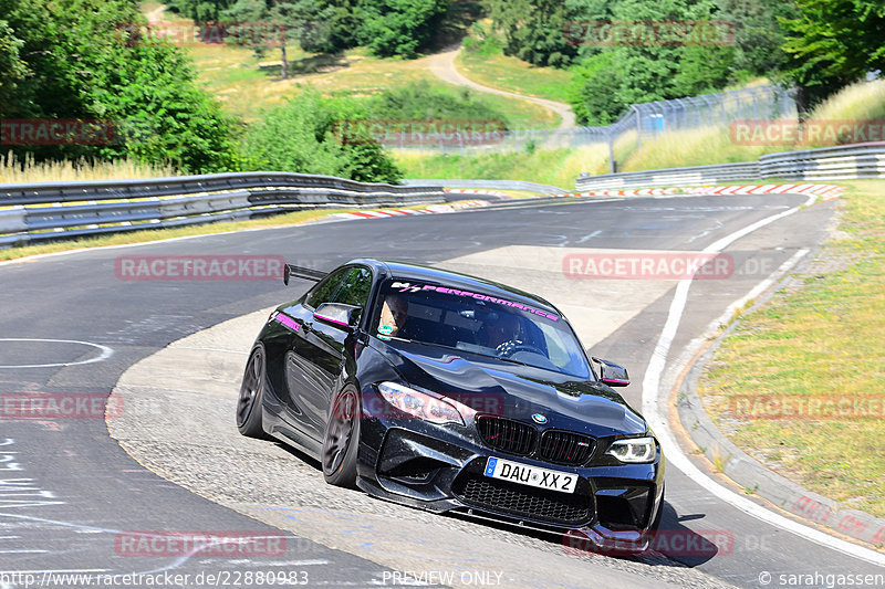
[[[674,541],[634,558],[582,554],[555,538],[434,516],[327,487],[317,466],[303,456],[274,443],[233,435],[229,399],[236,400],[239,374],[237,356],[230,350],[248,350],[257,328],[250,332],[252,324],[240,325],[236,341],[231,341],[235,332],[227,327],[239,325],[236,322],[205,332],[294,298],[308,283],[295,282],[287,288],[281,281],[122,280],[115,263],[119,256],[248,254],[281,255],[327,270],[353,257],[372,256],[472,272],[537,292],[559,305],[594,356],[629,369],[633,385],[622,391],[639,409],[648,407],[649,395],[644,399],[643,392],[645,372],[677,281],[569,278],[563,260],[581,259],[584,253],[611,254],[611,250],[700,251],[805,200],[792,194],[554,199],[496,210],[323,222],[4,263],[0,265],[4,309],[0,317],[4,402],[0,411],[0,589],[35,587],[41,579],[43,587],[85,586],[52,577],[69,574],[92,575],[93,586],[102,586],[96,580],[103,577],[143,574],[165,575],[155,585],[166,587],[258,587],[271,585],[272,577],[274,585],[284,580],[331,587],[421,582],[607,587],[606,581],[621,579],[623,587],[754,588],[787,587],[779,581],[782,575],[818,575],[818,579],[881,575],[885,568],[864,557],[866,549],[846,554],[837,549],[835,539],[827,546],[784,530],[736,508],[671,464],[662,528]],[[801,257],[802,264],[813,255],[825,239],[833,210],[833,202],[799,210],[728,245],[733,271],[720,280],[695,281],[688,292],[662,387],[674,381],[686,360],[685,350],[728,305],[785,262]],[[798,254],[803,250],[811,253]],[[206,334],[212,334],[219,350],[209,348],[215,340]],[[204,337],[195,341],[206,347],[167,349],[165,358],[175,353],[181,361],[177,370],[157,370],[153,387],[152,372],[143,370],[142,377],[148,377],[139,385],[143,390],[128,389],[118,407],[119,422],[129,419],[128,429],[115,433],[119,442],[112,438],[108,425],[114,432],[117,424],[112,419],[105,423],[104,400],[121,377],[136,365],[149,367],[139,362],[149,362],[156,353],[187,336]],[[215,353],[227,364],[214,364]],[[246,356],[239,358],[241,370]],[[206,389],[204,397],[200,386]],[[41,392],[80,399],[84,408],[100,398],[101,410],[83,409],[76,419],[10,414],[8,399]],[[177,399],[186,399],[186,404]],[[666,403],[662,407],[666,413]],[[133,419],[138,411],[146,417]],[[188,428],[204,422],[205,430]],[[217,428],[217,440],[216,430],[209,428]],[[683,442],[686,460],[725,488],[766,505],[717,478],[684,443],[679,428],[673,430]],[[665,453],[669,451],[665,446]],[[164,554],[144,554],[134,548],[140,544],[132,544],[133,538],[169,532],[241,533],[256,543],[252,553],[235,555],[225,553],[223,546],[195,549],[169,541],[163,544]],[[416,577],[429,572],[435,575]],[[180,577],[175,579],[175,575]],[[53,579],[54,585],[45,582]],[[145,582],[119,577],[104,586],[144,587]]]

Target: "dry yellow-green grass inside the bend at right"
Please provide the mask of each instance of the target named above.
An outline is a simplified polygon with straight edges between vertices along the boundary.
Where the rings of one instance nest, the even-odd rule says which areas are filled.
[[[840,183],[847,190],[839,236],[798,276],[800,286],[741,317],[698,390],[720,430],[750,455],[805,488],[882,517],[885,181]],[[877,407],[878,418],[860,419],[852,410],[850,419],[736,419],[732,410],[738,398],[777,407],[822,397]]]

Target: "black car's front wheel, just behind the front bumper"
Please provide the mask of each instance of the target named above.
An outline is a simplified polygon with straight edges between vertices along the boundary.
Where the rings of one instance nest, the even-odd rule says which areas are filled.
[[[326,483],[344,487],[356,486],[361,421],[360,396],[356,391],[344,389],[335,395],[329,410],[320,456]]]

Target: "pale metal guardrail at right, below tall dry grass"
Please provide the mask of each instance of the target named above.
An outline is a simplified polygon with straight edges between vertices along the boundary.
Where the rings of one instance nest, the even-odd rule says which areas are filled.
[[[758,161],[740,164],[667,168],[601,176],[582,173],[575,182],[575,189],[582,192],[612,188],[757,181],[763,178],[784,178],[800,181],[885,178],[885,143],[769,154],[761,156]]]

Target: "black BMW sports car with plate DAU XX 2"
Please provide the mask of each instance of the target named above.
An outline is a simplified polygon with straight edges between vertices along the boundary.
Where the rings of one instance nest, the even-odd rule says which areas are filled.
[[[316,457],[334,485],[433,512],[642,551],[664,457],[546,301],[481,278],[354,260],[268,318],[237,425]],[[598,368],[598,374],[594,370]]]

